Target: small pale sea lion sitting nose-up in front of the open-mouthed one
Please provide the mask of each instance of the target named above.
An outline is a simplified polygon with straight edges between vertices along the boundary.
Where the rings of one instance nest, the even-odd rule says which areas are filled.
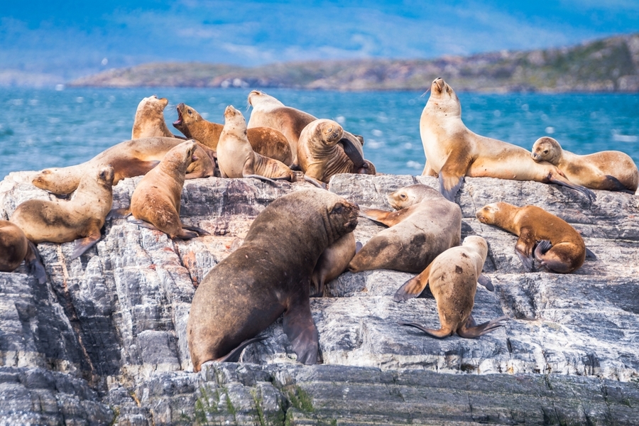
[[[217,164],[222,178],[295,181],[295,173],[288,165],[253,151],[246,137],[246,120],[232,105],[224,110],[224,130],[217,144]]]

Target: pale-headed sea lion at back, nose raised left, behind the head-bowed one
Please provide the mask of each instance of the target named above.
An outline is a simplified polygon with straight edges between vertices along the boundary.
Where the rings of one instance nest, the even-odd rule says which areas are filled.
[[[311,121],[317,120],[317,118],[299,109],[287,107],[278,99],[259,90],[253,90],[249,93],[248,102],[253,107],[249,124],[247,125],[249,129],[260,126],[272,127],[284,133],[288,143],[290,143],[290,150],[295,156],[294,164],[297,165],[297,141],[300,139],[302,130]],[[348,141],[342,141],[344,153],[358,167],[356,173],[374,175],[375,166],[373,163],[364,162],[364,151],[362,149],[364,138],[355,136],[347,131],[344,131],[344,138]]]

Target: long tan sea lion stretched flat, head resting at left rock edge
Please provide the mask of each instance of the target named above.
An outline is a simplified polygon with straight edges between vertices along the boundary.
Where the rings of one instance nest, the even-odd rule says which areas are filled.
[[[124,178],[145,175],[164,158],[164,155],[174,146],[184,142],[178,138],[141,138],[124,141],[111,146],[99,153],[91,160],[78,165],[63,168],[48,168],[40,171],[33,178],[33,185],[53,192],[66,195],[75,191],[80,179],[90,170],[111,165],[115,177],[113,185]],[[197,161],[191,163],[187,169],[187,179],[208,178],[214,174],[214,165],[208,153],[202,146],[195,151]]]

